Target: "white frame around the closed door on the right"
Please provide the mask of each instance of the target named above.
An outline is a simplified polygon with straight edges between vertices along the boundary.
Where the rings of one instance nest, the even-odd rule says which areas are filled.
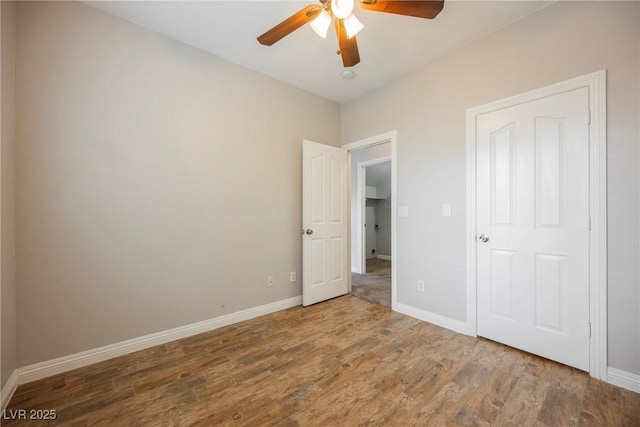
[[[607,111],[606,70],[467,110],[467,327],[478,335],[476,264],[476,118],[502,108],[589,89],[589,374],[607,381]]]

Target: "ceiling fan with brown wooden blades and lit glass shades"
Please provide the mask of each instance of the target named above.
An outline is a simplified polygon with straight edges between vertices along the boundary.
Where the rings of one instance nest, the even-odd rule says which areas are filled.
[[[345,67],[353,67],[360,62],[356,34],[364,27],[353,14],[356,0],[320,0],[321,4],[311,4],[294,13],[266,33],[258,41],[266,46],[288,36],[298,28],[310,22],[311,28],[320,36],[326,37],[331,21],[338,36],[338,53]],[[394,13],[433,19],[444,7],[444,0],[358,0],[364,10]]]

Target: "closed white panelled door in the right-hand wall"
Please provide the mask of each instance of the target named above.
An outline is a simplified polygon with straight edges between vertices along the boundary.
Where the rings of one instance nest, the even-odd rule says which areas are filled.
[[[580,88],[479,115],[478,335],[589,370],[589,115]]]

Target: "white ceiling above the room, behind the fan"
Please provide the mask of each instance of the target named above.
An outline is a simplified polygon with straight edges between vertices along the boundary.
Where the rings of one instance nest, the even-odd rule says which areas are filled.
[[[318,37],[305,25],[273,46],[256,37],[304,6],[276,0],[86,2],[120,18],[336,102],[345,102],[445,53],[529,15],[553,1],[446,0],[434,20],[370,12],[358,34],[361,62],[353,80],[336,54],[335,34]]]

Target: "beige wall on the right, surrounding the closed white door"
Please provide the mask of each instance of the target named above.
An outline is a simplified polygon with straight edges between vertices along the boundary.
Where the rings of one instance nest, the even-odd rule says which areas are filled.
[[[607,69],[609,365],[640,374],[639,5],[558,2],[343,105],[343,144],[398,131],[399,302],[466,320],[466,109]]]

